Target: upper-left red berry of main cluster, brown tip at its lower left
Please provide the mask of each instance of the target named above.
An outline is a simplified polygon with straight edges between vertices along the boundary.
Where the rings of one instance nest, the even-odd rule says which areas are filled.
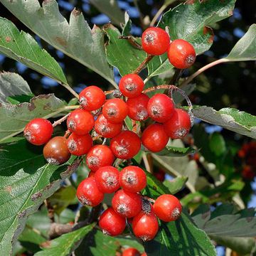
[[[105,93],[95,85],[86,87],[79,94],[80,105],[87,111],[97,110],[102,107],[105,100]]]

